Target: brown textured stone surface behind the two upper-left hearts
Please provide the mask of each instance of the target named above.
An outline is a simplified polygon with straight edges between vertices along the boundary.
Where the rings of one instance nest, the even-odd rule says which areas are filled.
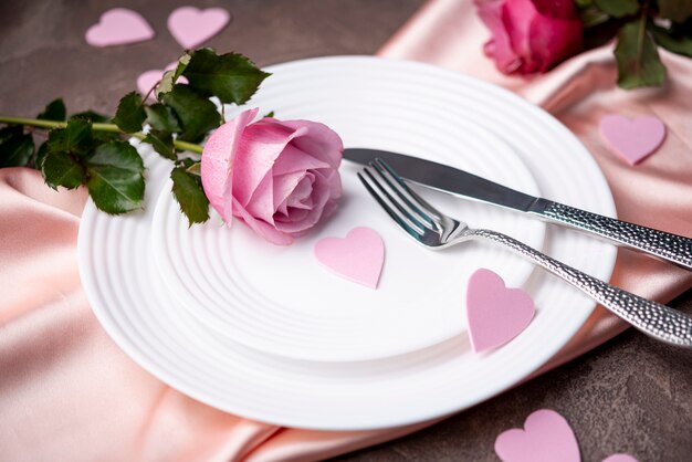
[[[0,112],[33,115],[63,96],[69,109],[113,113],[137,76],[162,69],[181,48],[166,28],[177,7],[224,6],[230,24],[205,45],[239,51],[260,65],[332,54],[373,54],[421,0],[0,1]],[[98,49],[84,41],[90,25],[115,7],[139,11],[153,40]]]

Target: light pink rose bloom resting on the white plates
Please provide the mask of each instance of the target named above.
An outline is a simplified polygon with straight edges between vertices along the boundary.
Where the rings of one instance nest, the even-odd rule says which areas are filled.
[[[286,245],[336,210],[344,145],[326,125],[241,113],[207,140],[205,193],[229,225],[239,218],[268,241]]]

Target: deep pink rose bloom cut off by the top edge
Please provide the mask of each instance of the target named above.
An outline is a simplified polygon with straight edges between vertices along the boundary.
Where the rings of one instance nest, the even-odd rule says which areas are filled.
[[[545,72],[583,48],[583,25],[570,0],[476,0],[492,38],[485,54],[511,74]]]

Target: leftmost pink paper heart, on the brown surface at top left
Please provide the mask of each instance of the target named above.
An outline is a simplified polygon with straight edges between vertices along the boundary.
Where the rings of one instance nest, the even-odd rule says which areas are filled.
[[[106,11],[85,34],[86,43],[93,46],[124,45],[151,38],[154,29],[149,23],[138,12],[126,8]]]

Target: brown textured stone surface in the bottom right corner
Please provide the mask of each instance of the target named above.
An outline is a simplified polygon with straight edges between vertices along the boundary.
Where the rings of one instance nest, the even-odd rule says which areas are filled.
[[[678,304],[678,306],[680,306]],[[684,303],[688,312],[692,303]],[[628,452],[643,461],[690,461],[692,354],[633,329],[579,359],[412,435],[339,461],[496,461],[495,438],[533,411],[562,413],[581,460]]]

